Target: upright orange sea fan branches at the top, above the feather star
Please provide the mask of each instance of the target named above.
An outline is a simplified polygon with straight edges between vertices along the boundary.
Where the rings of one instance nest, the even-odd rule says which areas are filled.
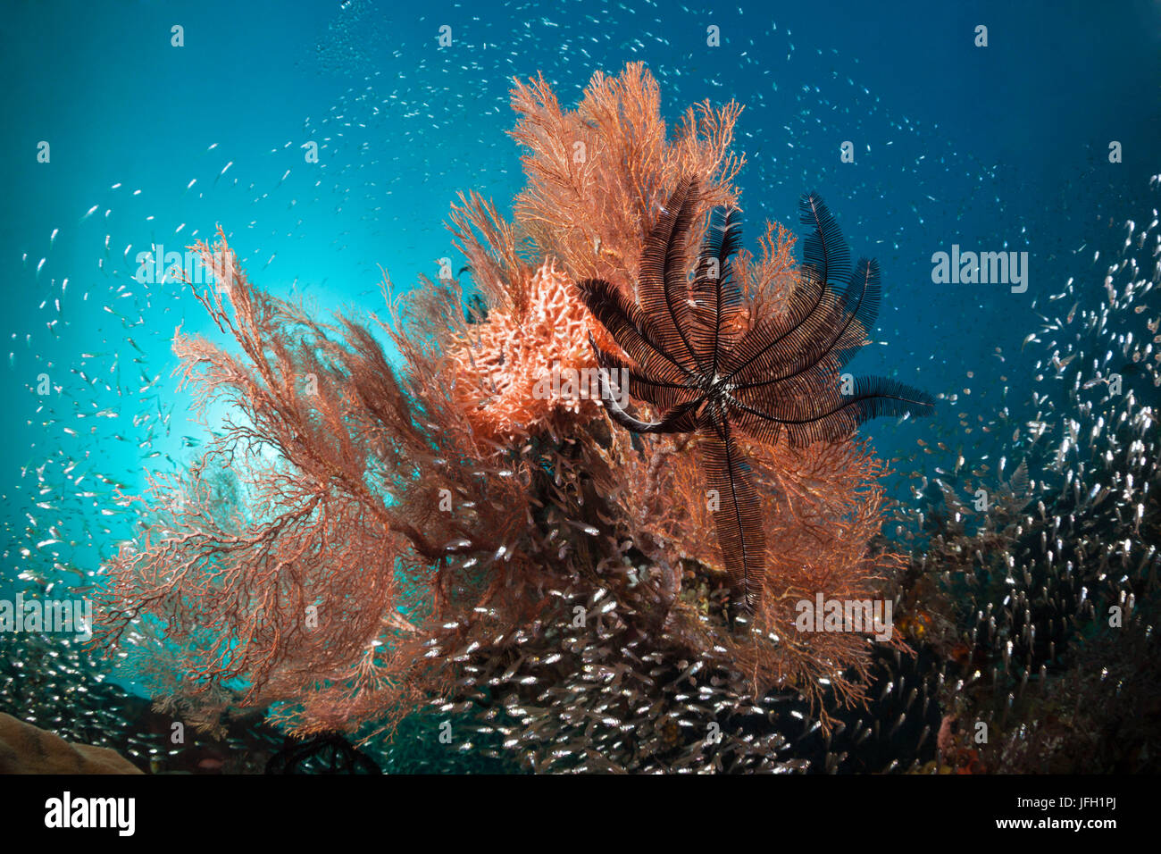
[[[572,281],[605,279],[633,294],[641,247],[682,177],[705,189],[699,215],[737,202],[734,179],[744,158],[731,151],[742,112],[733,101],[691,107],[670,134],[657,81],[632,63],[620,77],[593,74],[575,110],[561,108],[543,78],[517,80],[512,107],[527,175],[513,204],[515,224],[476,194],[453,208],[452,220],[477,286],[493,304],[510,304],[517,320],[528,304],[529,254],[536,263],[560,259]]]

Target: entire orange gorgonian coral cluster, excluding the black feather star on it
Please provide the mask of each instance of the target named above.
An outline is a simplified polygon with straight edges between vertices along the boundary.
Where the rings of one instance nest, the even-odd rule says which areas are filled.
[[[871,545],[884,468],[865,446],[743,440],[772,547],[740,633],[695,443],[633,436],[592,400],[536,388],[556,365],[594,365],[590,333],[619,354],[577,282],[637,300],[683,177],[700,187],[690,245],[713,207],[736,204],[741,108],[699,105],[670,129],[640,64],[596,74],[575,110],[543,79],[517,82],[513,107],[527,177],[514,221],[475,193],[452,209],[484,316],[464,320],[459,281],[424,280],[388,322],[323,323],[253,286],[224,235],[194,247],[219,286],[197,299],[238,352],[183,335],[174,350],[200,403],[229,415],[194,467],[139,498],[147,526],[106,567],[99,609],[100,643],[187,719],[276,705],[298,733],[390,729],[432,697],[488,699],[529,662],[541,669],[506,708],[547,708],[608,653],[614,622],[637,650],[621,675],[641,656],[695,658],[755,696],[796,688],[823,715],[822,680],[860,697],[867,633],[798,632],[794,603],[890,595],[897,560]],[[759,245],[733,261],[731,333],[794,310],[793,237],[769,225]]]

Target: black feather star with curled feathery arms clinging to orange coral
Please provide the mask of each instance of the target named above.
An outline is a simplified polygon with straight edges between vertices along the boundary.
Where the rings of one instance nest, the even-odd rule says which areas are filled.
[[[795,446],[836,442],[868,418],[924,414],[933,401],[881,378],[860,378],[843,393],[839,368],[866,343],[878,314],[879,266],[863,259],[851,274],[850,252],[822,199],[802,196],[802,223],[813,232],[799,280],[786,310],[762,318],[743,316],[731,275],[741,246],[736,209],[714,211],[691,282],[686,244],[697,207],[698,182],[686,178],[646,243],[636,303],[601,279],[578,289],[628,357],[601,350],[590,336],[612,419],[637,433],[698,433],[706,486],[719,498],[714,522],[731,611],[748,615],[763,587],[766,541],[738,435],[762,443],[785,435]],[[616,402],[610,376],[625,375],[629,394],[661,412],[657,421],[641,421]]]

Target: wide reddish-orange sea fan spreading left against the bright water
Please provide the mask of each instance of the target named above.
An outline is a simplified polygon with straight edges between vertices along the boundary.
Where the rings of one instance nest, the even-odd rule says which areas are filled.
[[[171,701],[199,720],[273,702],[302,732],[402,715],[420,696],[417,624],[477,603],[448,559],[522,528],[522,489],[496,479],[483,495],[447,464],[475,444],[419,350],[405,390],[367,329],[257,290],[221,232],[193,249],[216,281],[197,299],[241,356],[180,333],[174,351],[202,410],[229,415],[186,475],[142,498],[153,523],[107,567],[100,634],[163,637],[181,674]],[[236,510],[214,488],[224,476]],[[441,511],[445,496],[474,509]]]

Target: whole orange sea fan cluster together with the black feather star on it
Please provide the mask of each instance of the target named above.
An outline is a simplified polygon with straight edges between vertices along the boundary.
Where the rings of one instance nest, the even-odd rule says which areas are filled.
[[[839,374],[878,270],[851,275],[814,195],[801,264],[777,224],[742,249],[736,103],[670,129],[639,64],[574,110],[543,79],[512,103],[513,221],[476,193],[450,214],[476,296],[425,279],[382,320],[323,321],[225,234],[194,247],[235,345],[174,350],[226,415],[137,498],[100,643],[209,729],[262,709],[369,738],[435,704],[536,769],[781,768],[763,704],[800,695],[829,726],[875,643],[910,652],[795,625],[820,594],[890,600],[904,566],[854,428],[930,400]],[[571,381],[591,375],[604,394]]]

